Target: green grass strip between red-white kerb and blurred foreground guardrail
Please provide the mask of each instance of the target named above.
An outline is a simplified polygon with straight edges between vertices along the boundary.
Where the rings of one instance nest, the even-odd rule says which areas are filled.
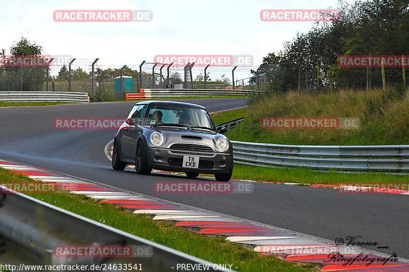
[[[2,183],[33,182],[21,174],[0,168]],[[226,242],[223,237],[206,236],[176,227],[170,221],[154,221],[150,216],[133,214],[122,207],[98,203],[84,195],[70,193],[29,194],[61,209],[85,216],[113,228],[149,239],[169,248],[214,263],[230,263],[238,271],[317,271],[313,264],[285,262],[276,257],[262,257],[241,244]]]

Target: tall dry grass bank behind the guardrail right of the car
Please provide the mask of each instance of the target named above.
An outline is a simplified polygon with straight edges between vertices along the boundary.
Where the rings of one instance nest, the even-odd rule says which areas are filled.
[[[262,117],[358,117],[358,129],[262,129]],[[409,143],[409,99],[403,86],[338,93],[272,94],[248,107],[231,140],[316,145]]]

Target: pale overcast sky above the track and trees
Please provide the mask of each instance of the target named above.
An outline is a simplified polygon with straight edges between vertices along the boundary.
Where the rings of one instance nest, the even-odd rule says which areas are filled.
[[[337,0],[88,0],[3,1],[0,50],[22,35],[43,46],[43,54],[70,55],[73,68],[88,70],[93,59],[101,68],[132,69],[155,55],[252,55],[254,66],[270,52],[278,52],[297,32],[313,22],[265,22],[263,9],[336,8]],[[55,10],[150,10],[150,22],[56,22]],[[220,67],[219,67],[220,68]],[[254,67],[239,67],[244,77]],[[198,69],[202,70],[203,68]],[[55,73],[59,67],[52,67]],[[225,73],[214,68],[214,78]],[[227,69],[231,70],[231,68]],[[229,74],[230,76],[230,74]]]

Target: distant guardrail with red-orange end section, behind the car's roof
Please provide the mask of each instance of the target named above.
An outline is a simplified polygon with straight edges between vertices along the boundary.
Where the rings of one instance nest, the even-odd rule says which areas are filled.
[[[220,96],[237,95],[247,96],[261,93],[252,90],[218,90],[218,89],[140,89],[140,93],[126,93],[125,99],[146,99],[178,96]]]

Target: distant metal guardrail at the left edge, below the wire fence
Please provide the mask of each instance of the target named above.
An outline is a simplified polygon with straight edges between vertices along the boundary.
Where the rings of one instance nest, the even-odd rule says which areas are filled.
[[[79,102],[88,103],[86,92],[2,92],[0,101],[6,102]]]

